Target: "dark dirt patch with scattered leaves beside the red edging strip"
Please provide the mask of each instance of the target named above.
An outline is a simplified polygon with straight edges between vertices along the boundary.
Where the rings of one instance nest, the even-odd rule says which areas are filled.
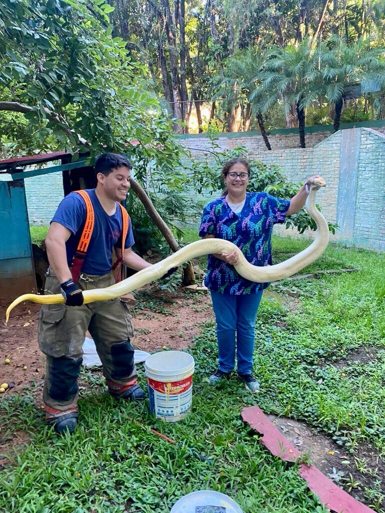
[[[385,461],[374,447],[361,444],[354,455],[304,422],[285,417],[268,416],[283,436],[303,455],[305,462],[315,465],[325,476],[335,481],[353,497],[368,503],[366,489],[385,494]],[[379,499],[381,501],[381,499]],[[385,507],[385,498],[376,506]]]

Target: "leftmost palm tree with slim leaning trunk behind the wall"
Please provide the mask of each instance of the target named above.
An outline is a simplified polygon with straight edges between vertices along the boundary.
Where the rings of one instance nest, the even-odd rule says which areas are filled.
[[[261,107],[262,97],[266,94],[261,88],[263,64],[263,55],[253,48],[240,50],[226,59],[220,88],[227,111],[236,107],[241,109],[243,130],[248,129],[255,116],[266,148],[271,150]]]

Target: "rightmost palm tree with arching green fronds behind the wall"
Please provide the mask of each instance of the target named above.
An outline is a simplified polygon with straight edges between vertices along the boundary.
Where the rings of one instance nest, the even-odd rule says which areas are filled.
[[[348,45],[332,36],[322,42],[314,58],[319,63],[325,96],[334,104],[334,131],[339,130],[344,103],[363,92],[385,87],[385,48],[371,40],[357,40]]]

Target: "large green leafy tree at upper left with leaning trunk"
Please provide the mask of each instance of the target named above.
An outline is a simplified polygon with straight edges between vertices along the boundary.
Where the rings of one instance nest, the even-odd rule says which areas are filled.
[[[122,38],[113,37],[112,11],[101,0],[0,4],[1,141],[10,145],[17,135],[20,152],[128,154],[136,178],[131,188],[177,250],[149,199],[159,191],[148,195],[140,184],[145,186],[151,163],[158,188],[178,191],[181,173],[174,170],[181,167],[183,149],[156,95],[148,92],[143,66],[132,60]],[[12,123],[17,128],[11,130]]]

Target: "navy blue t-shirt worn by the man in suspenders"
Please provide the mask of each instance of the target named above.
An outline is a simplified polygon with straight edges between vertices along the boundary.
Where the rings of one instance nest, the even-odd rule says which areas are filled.
[[[87,192],[95,213],[95,223],[82,272],[97,275],[107,274],[112,268],[113,248],[122,248],[122,212],[117,203],[115,213],[108,215],[100,204],[95,189],[87,189]],[[67,262],[70,267],[86,221],[86,205],[81,195],[76,192],[68,194],[57,207],[52,221],[71,231],[66,242]],[[130,248],[133,244],[130,219],[124,247]]]

